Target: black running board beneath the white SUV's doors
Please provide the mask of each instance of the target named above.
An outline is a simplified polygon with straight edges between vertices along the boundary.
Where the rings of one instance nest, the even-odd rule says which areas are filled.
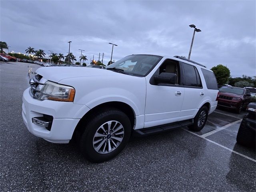
[[[188,125],[192,125],[192,124],[194,124],[194,119],[178,121],[178,122],[174,122],[174,123],[133,130],[133,135],[134,136],[147,136],[150,134],[160,133],[160,132],[164,132],[164,131],[167,131],[167,130],[170,130],[173,128],[179,128],[179,127],[188,126]]]

